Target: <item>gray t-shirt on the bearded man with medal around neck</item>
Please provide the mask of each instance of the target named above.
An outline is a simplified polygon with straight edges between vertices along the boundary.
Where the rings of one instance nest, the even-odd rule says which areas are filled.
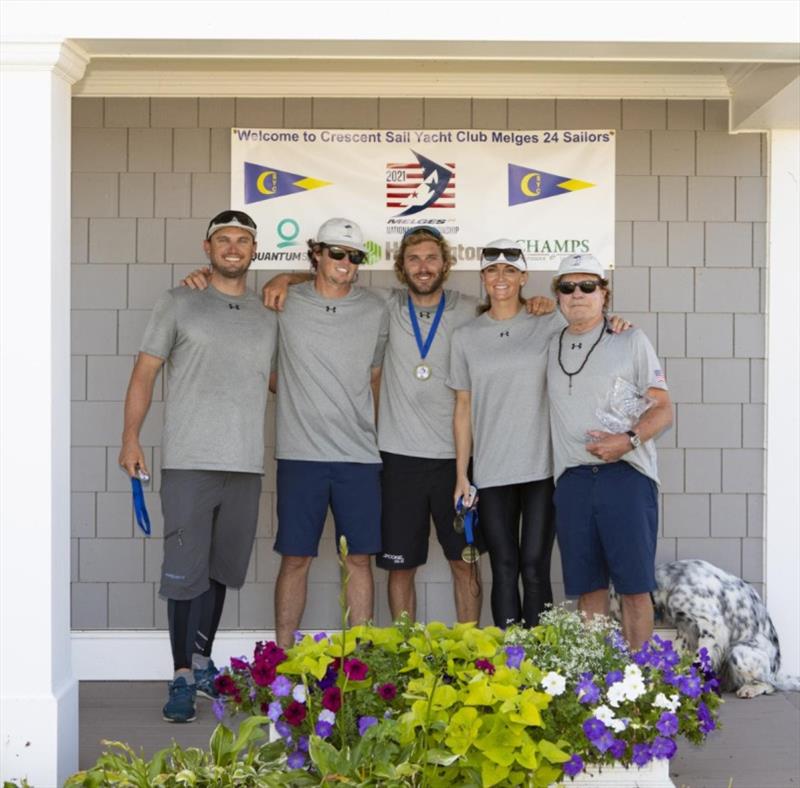
[[[408,290],[376,289],[389,305],[389,343],[381,373],[378,445],[381,451],[409,457],[449,459],[456,456],[453,443],[455,397],[446,385],[453,332],[475,318],[478,299],[445,290],[442,319],[425,356],[428,380],[414,374],[421,363],[408,314]],[[417,307],[422,341],[428,338],[436,307]]]

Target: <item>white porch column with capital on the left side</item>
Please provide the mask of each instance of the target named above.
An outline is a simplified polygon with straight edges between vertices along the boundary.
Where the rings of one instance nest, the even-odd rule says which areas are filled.
[[[78,767],[70,661],[68,43],[0,44],[0,779]]]

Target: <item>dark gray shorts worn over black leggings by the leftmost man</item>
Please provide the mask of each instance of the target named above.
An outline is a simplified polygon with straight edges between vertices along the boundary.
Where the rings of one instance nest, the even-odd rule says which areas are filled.
[[[231,588],[244,585],[260,494],[258,473],[162,471],[162,597],[194,599],[209,578]]]

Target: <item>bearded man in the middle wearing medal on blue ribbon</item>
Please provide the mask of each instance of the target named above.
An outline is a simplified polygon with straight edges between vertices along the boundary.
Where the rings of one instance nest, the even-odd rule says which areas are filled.
[[[394,270],[402,288],[371,288],[389,308],[389,341],[380,385],[378,444],[383,460],[382,548],[393,618],[416,616],[415,576],[428,557],[430,522],[447,558],[459,621],[478,621],[477,567],[463,560],[463,534],[453,529],[456,480],[453,392],[445,381],[453,332],[476,315],[478,299],[444,288],[455,260],[442,233],[420,225],[406,231]],[[264,303],[282,309],[288,285],[305,274],[280,274],[264,288]],[[294,288],[292,288],[294,290]],[[528,308],[552,311],[547,298]]]

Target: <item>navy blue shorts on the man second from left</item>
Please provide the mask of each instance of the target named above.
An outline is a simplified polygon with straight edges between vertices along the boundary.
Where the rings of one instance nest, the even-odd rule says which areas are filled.
[[[315,556],[328,506],[336,544],[347,537],[352,555],[381,549],[381,465],[278,460],[278,535],[281,555]]]

